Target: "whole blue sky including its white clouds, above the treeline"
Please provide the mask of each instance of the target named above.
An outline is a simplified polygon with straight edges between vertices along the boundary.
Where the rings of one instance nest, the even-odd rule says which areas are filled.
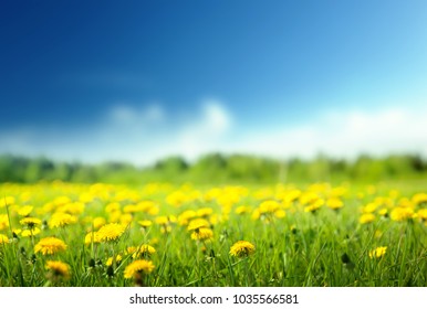
[[[0,152],[427,153],[426,1],[2,1]]]

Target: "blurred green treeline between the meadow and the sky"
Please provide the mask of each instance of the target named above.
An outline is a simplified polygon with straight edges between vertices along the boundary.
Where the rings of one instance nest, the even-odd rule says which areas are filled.
[[[87,164],[60,162],[43,157],[0,156],[0,182],[20,183],[54,180],[128,184],[149,181],[188,181],[200,184],[317,181],[337,183],[409,180],[426,175],[427,160],[417,154],[360,156],[354,160],[319,154],[311,160],[277,160],[246,154],[209,153],[194,162],[181,157],[169,157],[148,167],[136,167],[126,162]]]

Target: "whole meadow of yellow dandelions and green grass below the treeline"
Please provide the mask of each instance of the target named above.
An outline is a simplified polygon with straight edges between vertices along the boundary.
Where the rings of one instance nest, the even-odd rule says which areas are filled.
[[[423,185],[0,185],[0,286],[427,286]]]

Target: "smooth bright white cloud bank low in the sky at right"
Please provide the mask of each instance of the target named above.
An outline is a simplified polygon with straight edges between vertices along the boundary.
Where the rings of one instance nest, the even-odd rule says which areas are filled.
[[[344,158],[361,153],[427,154],[426,116],[427,110],[404,107],[326,113],[315,122],[247,136],[233,149],[282,158],[310,158],[317,153]]]

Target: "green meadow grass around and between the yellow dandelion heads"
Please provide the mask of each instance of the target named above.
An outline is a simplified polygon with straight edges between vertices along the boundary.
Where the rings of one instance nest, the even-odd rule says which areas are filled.
[[[358,222],[361,207],[375,198],[388,196],[392,189],[398,189],[400,196],[392,199],[390,211],[400,198],[412,199],[420,192],[417,184],[392,187],[383,183],[371,194],[366,193],[366,185],[348,188],[348,193],[342,198],[344,207],[339,211],[322,206],[314,213],[308,213],[296,201],[285,209],[285,217],[265,214],[264,220],[253,220],[251,213],[236,214],[236,207],[248,205],[253,211],[264,199],[277,199],[277,188],[272,187],[262,199],[251,196],[260,188],[247,188],[249,194],[240,196],[228,207],[218,199],[207,201],[202,198],[192,199],[180,206],[170,205],[166,196],[177,190],[170,185],[149,191],[147,187],[110,185],[95,190],[90,185],[61,183],[3,184],[0,187],[1,196],[14,196],[15,201],[12,205],[0,207],[0,215],[9,212],[10,221],[8,227],[0,224],[3,226],[0,234],[10,238],[10,242],[0,244],[0,286],[134,286],[135,280],[123,276],[124,269],[133,260],[132,255],[124,253],[127,247],[142,244],[152,244],[156,248],[156,253],[149,257],[156,266],[155,270],[143,275],[138,281],[145,286],[427,286],[427,226],[421,220],[396,222],[389,216],[376,215],[372,223]],[[306,187],[300,189],[304,192]],[[208,190],[180,189],[187,196],[191,192],[199,192],[202,196]],[[12,236],[13,228],[22,228],[18,215],[20,206],[34,205],[31,215],[49,222],[53,210],[43,213],[38,213],[38,210],[55,201],[56,196],[66,195],[76,201],[86,193],[92,200],[85,203],[85,211],[77,215],[76,224],[45,227],[33,238]],[[327,195],[327,192],[317,193]],[[358,193],[364,193],[364,196]],[[84,236],[92,226],[87,217],[103,216],[108,221],[105,212],[108,203],[118,202],[123,212],[124,206],[142,200],[155,201],[159,213],[134,213],[132,223],[116,242],[84,244]],[[197,211],[201,206],[211,207],[211,217],[217,216],[217,221],[212,221],[215,237],[211,242],[191,239],[191,232],[179,223],[170,223],[169,233],[163,233],[162,225],[155,223],[158,215],[178,217],[185,210]],[[425,204],[414,205],[414,212],[423,207]],[[227,210],[229,214],[225,215]],[[142,230],[137,224],[139,220],[152,220],[154,224]],[[53,256],[35,254],[34,244],[46,236],[63,239],[67,249]],[[240,239],[256,246],[253,255],[242,258],[230,256],[230,247]],[[369,258],[368,253],[379,246],[387,247],[386,254],[381,258]],[[116,254],[123,256],[122,262],[113,267],[106,266],[107,258]],[[69,264],[70,279],[52,278],[45,269],[49,259]]]

